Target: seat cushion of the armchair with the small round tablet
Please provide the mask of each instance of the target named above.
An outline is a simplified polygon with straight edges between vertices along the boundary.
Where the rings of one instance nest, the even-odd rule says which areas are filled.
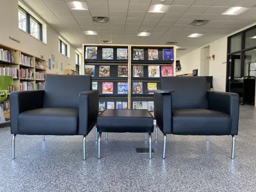
[[[227,135],[231,130],[231,117],[209,109],[173,109],[173,134]]]

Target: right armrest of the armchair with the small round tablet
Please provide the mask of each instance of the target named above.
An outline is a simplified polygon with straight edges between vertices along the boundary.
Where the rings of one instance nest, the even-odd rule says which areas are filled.
[[[227,113],[231,116],[232,135],[238,133],[239,122],[239,95],[237,93],[208,91],[209,109]]]

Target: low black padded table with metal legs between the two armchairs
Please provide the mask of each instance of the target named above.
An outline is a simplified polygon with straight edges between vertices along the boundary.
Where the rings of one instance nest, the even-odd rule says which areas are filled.
[[[154,117],[147,110],[106,109],[97,118],[98,158],[102,132],[148,132],[149,159],[152,155],[151,133],[154,132]]]

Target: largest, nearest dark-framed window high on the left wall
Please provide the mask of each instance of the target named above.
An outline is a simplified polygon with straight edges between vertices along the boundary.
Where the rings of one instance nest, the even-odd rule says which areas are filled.
[[[19,28],[42,41],[42,24],[19,6]]]

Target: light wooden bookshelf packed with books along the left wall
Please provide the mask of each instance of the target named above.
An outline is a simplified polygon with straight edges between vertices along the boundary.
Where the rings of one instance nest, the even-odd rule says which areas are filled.
[[[14,91],[44,89],[45,72],[45,60],[0,44],[0,76],[13,77]]]

